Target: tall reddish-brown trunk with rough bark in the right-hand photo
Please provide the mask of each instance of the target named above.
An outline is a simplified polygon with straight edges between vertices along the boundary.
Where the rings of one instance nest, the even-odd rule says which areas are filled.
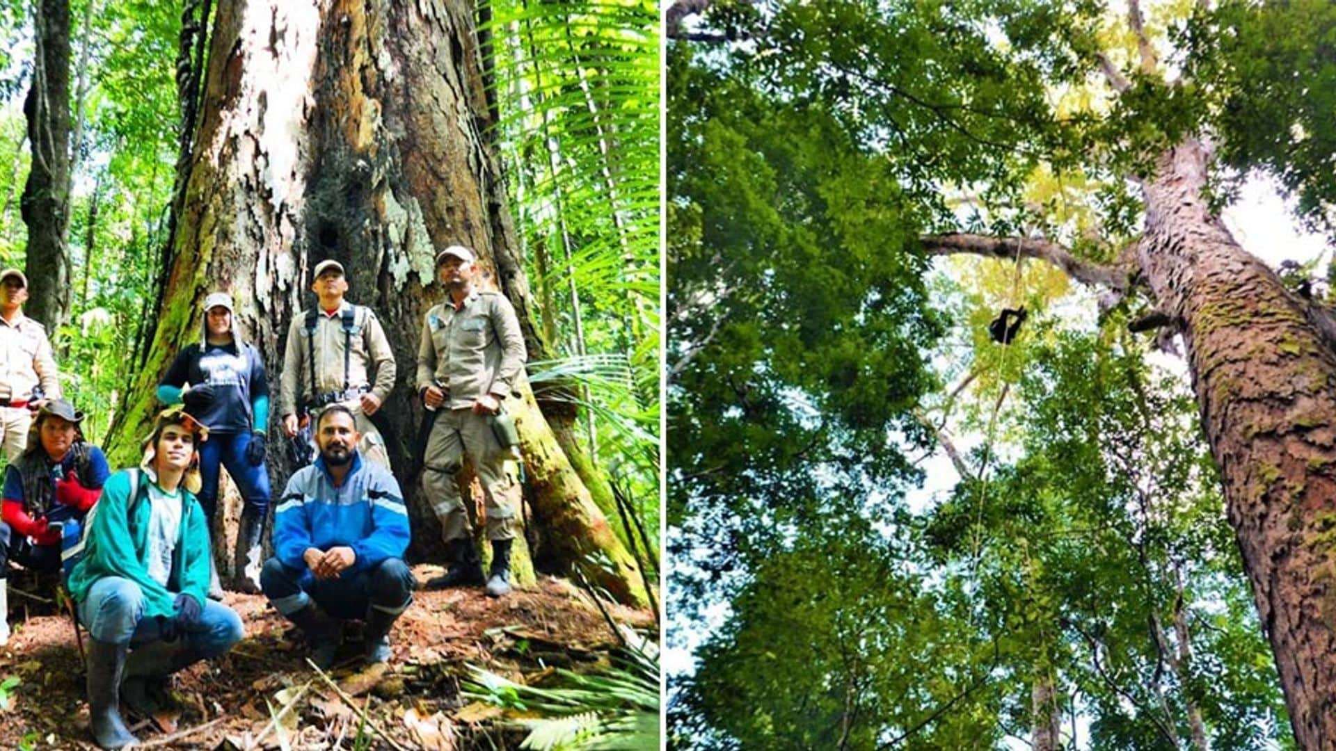
[[[1299,746],[1336,746],[1336,354],[1305,303],[1245,253],[1188,140],[1145,186],[1140,265],[1181,322],[1229,521]]]

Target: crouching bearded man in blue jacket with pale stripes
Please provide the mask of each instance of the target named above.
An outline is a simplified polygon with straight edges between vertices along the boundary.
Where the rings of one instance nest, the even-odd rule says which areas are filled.
[[[274,557],[261,589],[311,644],[311,660],[334,664],[343,620],[366,621],[366,659],[390,659],[390,627],[413,603],[403,551],[409,516],[387,469],[363,461],[361,434],[346,406],[315,418],[321,456],[297,470],[274,510]]]

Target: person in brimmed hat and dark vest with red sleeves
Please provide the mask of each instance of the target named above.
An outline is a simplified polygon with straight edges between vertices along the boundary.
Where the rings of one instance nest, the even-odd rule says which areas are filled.
[[[28,448],[5,468],[0,517],[0,613],[9,612],[8,561],[36,571],[60,571],[63,536],[77,536],[84,514],[102,496],[107,456],[84,441],[83,413],[64,400],[37,410]],[[9,639],[0,621],[0,644]]]

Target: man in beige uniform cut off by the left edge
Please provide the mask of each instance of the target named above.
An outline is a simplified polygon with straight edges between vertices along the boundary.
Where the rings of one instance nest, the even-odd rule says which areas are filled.
[[[47,330],[23,314],[28,278],[17,269],[0,271],[0,441],[15,461],[28,440],[32,412],[43,400],[60,398],[56,359]]]

